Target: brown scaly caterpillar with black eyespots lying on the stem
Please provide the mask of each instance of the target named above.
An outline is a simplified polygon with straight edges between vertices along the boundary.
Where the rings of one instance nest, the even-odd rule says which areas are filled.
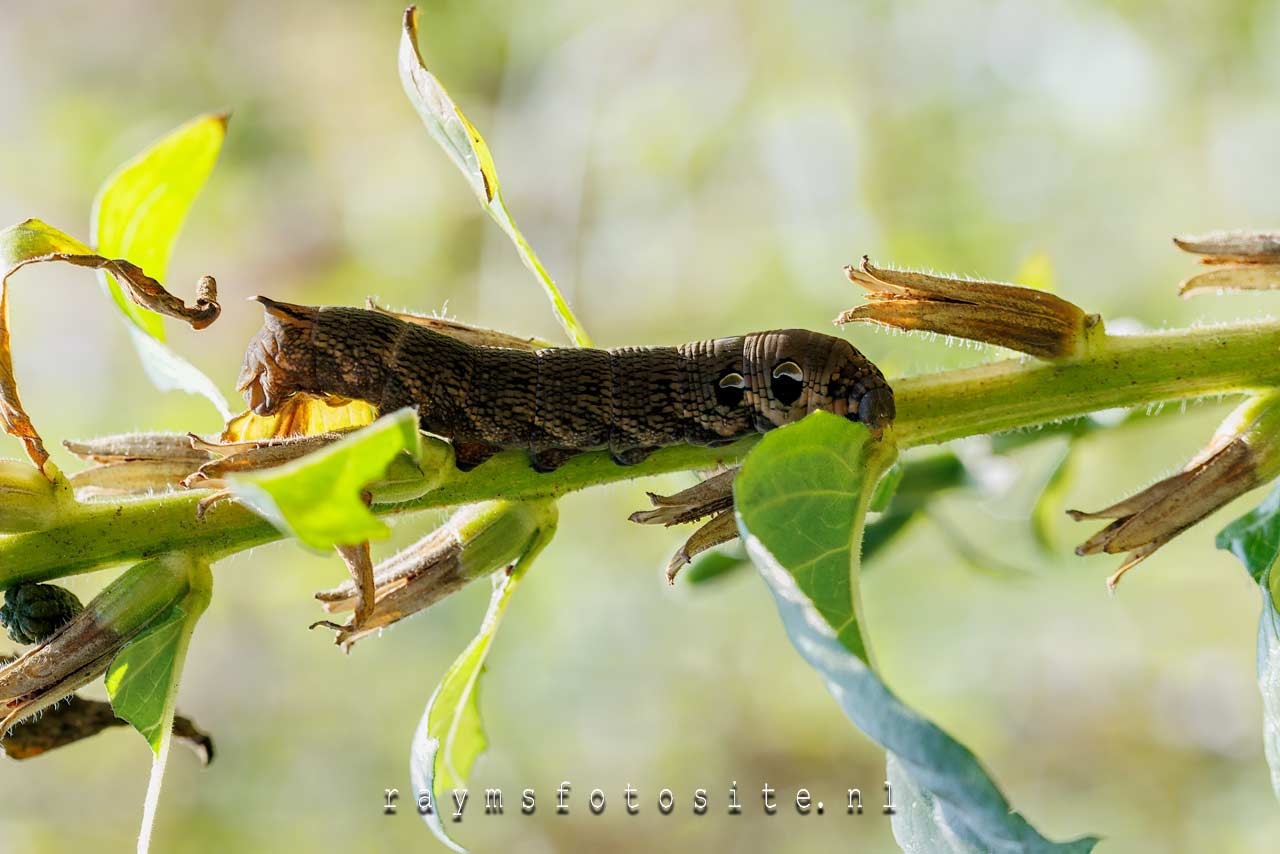
[[[681,347],[517,350],[381,311],[257,298],[266,320],[239,376],[255,412],[300,392],[384,412],[412,406],[424,430],[453,442],[463,470],[504,448],[529,451],[538,471],[602,449],[635,465],[664,446],[728,444],[817,410],[877,435],[893,420],[879,369],[849,342],[804,329]]]

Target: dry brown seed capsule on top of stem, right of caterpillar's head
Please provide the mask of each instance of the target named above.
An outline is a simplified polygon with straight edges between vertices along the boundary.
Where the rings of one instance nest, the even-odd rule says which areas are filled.
[[[870,302],[845,311],[837,324],[936,332],[1052,360],[1079,355],[1100,323],[1044,291],[878,268],[867,256],[845,274],[867,288]]]

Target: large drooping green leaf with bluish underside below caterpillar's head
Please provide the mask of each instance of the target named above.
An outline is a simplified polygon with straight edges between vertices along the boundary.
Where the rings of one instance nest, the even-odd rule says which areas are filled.
[[[791,643],[919,793],[893,817],[905,850],[1092,850],[1093,839],[1055,844],[1041,836],[1011,810],[968,748],[906,707],[873,670],[855,618],[858,543],[870,493],[893,452],[869,435],[861,424],[818,412],[767,434],[735,484],[742,542]],[[938,840],[947,845],[937,848]]]

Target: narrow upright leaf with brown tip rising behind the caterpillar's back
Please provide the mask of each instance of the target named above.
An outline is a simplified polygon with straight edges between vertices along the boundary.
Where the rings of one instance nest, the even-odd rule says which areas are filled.
[[[458,172],[467,179],[471,191],[480,201],[493,222],[506,232],[507,237],[516,246],[520,260],[524,261],[529,271],[534,274],[547,298],[552,302],[556,318],[563,326],[564,333],[577,347],[590,347],[591,338],[586,329],[568,307],[568,302],[561,294],[556,280],[543,266],[529,241],[520,233],[516,220],[502,201],[502,187],[498,184],[498,169],[489,154],[489,146],[484,137],[475,129],[475,125],[462,115],[449,93],[440,86],[440,81],[431,72],[426,70],[422,55],[417,49],[417,8],[410,6],[404,12],[404,32],[401,37],[399,49],[401,83],[408,96],[413,109],[417,110],[422,124],[426,125],[431,138],[435,140],[449,160],[458,168]]]

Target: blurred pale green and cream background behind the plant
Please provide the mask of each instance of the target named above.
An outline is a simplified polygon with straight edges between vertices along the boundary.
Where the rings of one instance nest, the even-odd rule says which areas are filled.
[[[366,294],[556,337],[539,289],[428,138],[396,72],[403,0],[5,3],[0,223],[82,238],[96,187],[155,137],[232,109],[170,287],[218,277],[221,320],[173,346],[232,393],[255,293]],[[827,329],[869,252],[1009,278],[1047,257],[1060,293],[1148,328],[1265,314],[1262,297],[1180,302],[1193,262],[1170,234],[1276,220],[1280,6],[1197,3],[585,0],[436,3],[429,64],[485,133],[507,200],[596,342],[678,343],[778,325]],[[160,394],[92,277],[32,269],[12,294],[23,398],[46,438],[219,428]],[[1000,357],[846,330],[891,376]],[[1096,507],[1179,467],[1228,403],[1089,438],[1064,506]],[[3,452],[18,456],[5,438]],[[982,442],[963,448],[983,455]],[[890,682],[970,745],[1055,837],[1100,851],[1274,850],[1280,813],[1253,682],[1258,595],[1193,529],[1108,598],[1110,558],[1029,535],[1052,442],[988,461],[865,579]],[[73,462],[61,453],[55,460]],[[764,817],[760,785],[828,804],[879,791],[883,757],[792,653],[754,572],[668,588],[680,531],[626,522],[644,489],[576,494],[489,662],[492,748],[457,835],[477,850],[893,851],[881,816]],[[404,519],[396,542],[435,517]],[[947,530],[964,531],[969,553]],[[389,547],[388,547],[389,548]],[[1016,570],[1016,571],[1014,571]],[[91,595],[109,574],[73,579]],[[480,618],[476,585],[357,647],[308,634],[337,560],[282,543],[215,567],[179,708],[216,737],[175,750],[157,850],[435,850],[408,790],[422,705]],[[115,731],[0,767],[0,849],[127,850],[148,752]],[[556,817],[553,790],[573,785]],[[724,816],[737,781],[745,814]],[[622,789],[640,790],[628,817]],[[522,817],[518,790],[539,793]],[[608,794],[593,817],[586,795]],[[677,809],[659,816],[658,789]],[[695,787],[712,794],[694,816]]]

